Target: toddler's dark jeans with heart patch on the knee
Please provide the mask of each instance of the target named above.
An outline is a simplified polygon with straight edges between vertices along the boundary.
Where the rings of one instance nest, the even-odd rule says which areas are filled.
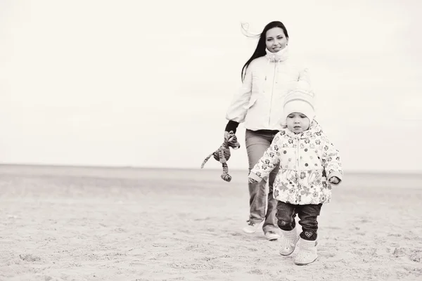
[[[295,228],[295,217],[298,214],[302,226],[300,237],[304,240],[316,240],[318,221],[316,217],[321,212],[322,204],[293,205],[285,202],[277,202],[277,219],[279,228],[290,231]]]

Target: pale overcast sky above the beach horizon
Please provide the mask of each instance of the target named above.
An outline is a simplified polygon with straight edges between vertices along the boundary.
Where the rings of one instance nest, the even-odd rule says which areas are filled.
[[[421,1],[143,2],[0,1],[1,163],[199,168],[281,20],[344,169],[422,171]]]

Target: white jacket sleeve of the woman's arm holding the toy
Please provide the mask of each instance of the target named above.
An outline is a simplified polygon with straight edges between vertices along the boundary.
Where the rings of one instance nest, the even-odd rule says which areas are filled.
[[[246,112],[248,112],[247,105],[252,95],[252,63],[248,65],[241,89],[234,95],[226,112],[226,119],[229,121],[238,123],[245,121]]]

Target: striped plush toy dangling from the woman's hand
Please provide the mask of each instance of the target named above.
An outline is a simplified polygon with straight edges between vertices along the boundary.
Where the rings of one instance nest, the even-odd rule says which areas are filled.
[[[214,156],[218,162],[222,163],[223,166],[223,174],[222,179],[224,181],[231,181],[231,176],[229,175],[229,166],[227,166],[227,161],[230,159],[230,148],[238,149],[241,147],[241,144],[238,143],[236,135],[233,131],[230,131],[224,137],[224,143],[217,149],[215,152],[212,152],[210,155],[205,158],[203,164],[200,166],[200,169],[203,169],[205,163],[210,159],[211,156]]]

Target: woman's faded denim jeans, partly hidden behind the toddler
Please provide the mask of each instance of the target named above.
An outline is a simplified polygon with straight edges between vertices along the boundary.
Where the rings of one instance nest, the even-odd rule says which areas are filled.
[[[249,172],[257,164],[258,160],[264,155],[264,151],[269,148],[271,141],[279,131],[246,130],[245,143],[246,151],[248,152]],[[273,197],[273,183],[279,168],[276,167],[269,175],[269,192],[266,193],[265,181],[260,183],[248,183],[249,185],[249,220],[254,223],[261,223],[264,221],[262,230],[267,233],[269,230],[278,230],[276,221],[276,206],[277,200]],[[266,211],[267,209],[267,211]]]

